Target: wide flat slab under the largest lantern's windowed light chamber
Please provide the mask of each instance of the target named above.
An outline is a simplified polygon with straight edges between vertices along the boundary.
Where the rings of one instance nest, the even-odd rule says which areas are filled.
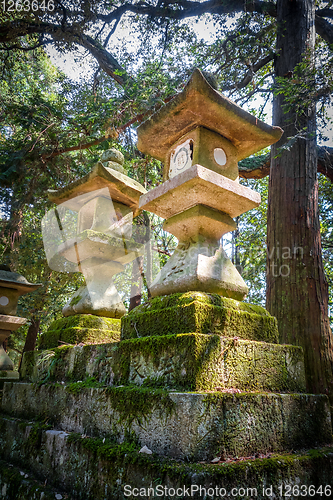
[[[237,217],[257,207],[260,194],[196,164],[142,195],[139,208],[169,219],[198,204]]]

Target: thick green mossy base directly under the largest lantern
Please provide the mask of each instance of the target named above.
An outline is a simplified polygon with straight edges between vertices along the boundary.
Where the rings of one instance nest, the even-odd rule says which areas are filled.
[[[263,307],[203,292],[155,297],[124,316],[121,325],[122,340],[197,332],[278,342],[276,318]]]

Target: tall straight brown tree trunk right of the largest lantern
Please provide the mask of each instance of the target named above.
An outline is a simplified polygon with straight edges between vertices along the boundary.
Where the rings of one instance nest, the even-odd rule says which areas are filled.
[[[292,77],[304,57],[312,64],[314,0],[278,0],[276,76]],[[318,215],[315,105],[302,113],[284,112],[274,97],[273,123],[285,131],[272,147],[267,230],[267,309],[277,317],[280,341],[301,345],[307,391],[326,393],[333,402],[332,332],[328,286],[321,257]],[[287,137],[304,132],[289,151]],[[276,156],[278,155],[278,156]]]

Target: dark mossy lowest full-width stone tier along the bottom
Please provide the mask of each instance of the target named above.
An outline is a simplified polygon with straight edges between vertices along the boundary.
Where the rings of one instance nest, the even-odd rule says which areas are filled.
[[[47,484],[62,488],[68,498],[73,495],[76,500],[296,499],[301,487],[303,497],[330,498],[333,491],[333,450],[329,447],[217,464],[181,463],[139,453],[140,445],[134,442],[117,445],[109,439],[67,434],[17,419],[1,418],[0,425],[2,459],[35,470]],[[8,479],[7,469],[3,471],[0,465],[0,485],[9,484],[19,492],[22,483],[15,476]],[[2,488],[3,500],[52,498],[46,494],[1,496]]]

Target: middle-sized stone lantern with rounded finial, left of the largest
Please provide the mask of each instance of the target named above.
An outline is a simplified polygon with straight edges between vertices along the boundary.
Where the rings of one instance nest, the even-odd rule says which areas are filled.
[[[112,277],[140,254],[132,238],[132,221],[139,212],[139,197],[146,190],[125,174],[123,161],[120,151],[107,150],[89,174],[49,191],[50,201],[78,214],[74,236],[63,241],[54,256],[77,266],[86,280],[63,308],[65,317],[92,314],[121,318],[126,313]],[[44,234],[46,230],[43,228]],[[49,264],[53,266],[52,258]]]

